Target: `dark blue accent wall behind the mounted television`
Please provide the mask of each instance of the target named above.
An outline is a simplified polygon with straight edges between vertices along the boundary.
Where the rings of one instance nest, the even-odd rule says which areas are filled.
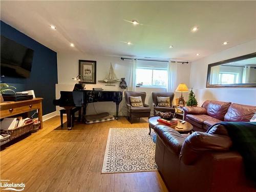
[[[57,53],[2,21],[1,35],[34,50],[29,78],[1,77],[1,81],[16,87],[16,91],[34,90],[36,97],[44,98],[43,114],[54,112],[52,102],[55,99],[55,84],[58,83]]]

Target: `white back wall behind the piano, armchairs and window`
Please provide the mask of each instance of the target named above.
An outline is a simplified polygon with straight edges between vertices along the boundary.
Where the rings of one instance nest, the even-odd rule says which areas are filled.
[[[60,97],[60,91],[72,91],[76,81],[72,80],[73,77],[78,75],[78,60],[96,60],[97,61],[97,74],[96,81],[97,84],[86,84],[87,90],[92,90],[92,88],[101,87],[104,90],[121,90],[119,88],[119,83],[115,83],[115,87],[105,86],[105,83],[98,82],[106,77],[109,72],[110,62],[112,62],[115,74],[117,78],[125,77],[126,82],[129,80],[130,65],[131,60],[121,60],[120,57],[114,56],[99,56],[99,55],[87,55],[84,53],[78,52],[58,52],[57,53],[57,62],[58,62],[58,84],[56,84],[56,98]],[[189,84],[189,73],[190,73],[190,64],[181,63],[178,64],[178,74],[177,74],[177,86],[179,83],[184,82],[187,85]],[[176,86],[176,87],[177,87]],[[163,88],[136,88],[136,91],[145,91],[146,103],[152,106],[152,91],[163,91],[166,92]],[[177,97],[180,96],[180,93],[177,93]],[[187,98],[187,93],[184,93],[184,97]],[[59,110],[59,108],[57,108]],[[115,115],[116,106],[113,102],[96,102],[89,103],[87,107],[87,114],[96,114],[101,112],[109,112],[110,114]],[[119,115],[126,115],[126,106],[123,101],[119,105]]]

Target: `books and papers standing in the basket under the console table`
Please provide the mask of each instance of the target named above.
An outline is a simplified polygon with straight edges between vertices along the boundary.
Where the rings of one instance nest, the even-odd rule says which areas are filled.
[[[23,119],[22,117],[4,118],[3,121],[0,122],[0,127],[1,127],[1,130],[13,130],[16,127],[24,126],[31,122],[33,122],[33,119],[30,119],[30,118],[26,118],[26,119]]]

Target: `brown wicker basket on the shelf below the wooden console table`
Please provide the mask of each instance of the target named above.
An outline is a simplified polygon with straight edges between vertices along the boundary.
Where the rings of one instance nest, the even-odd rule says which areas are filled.
[[[33,122],[23,126],[16,127],[13,130],[1,130],[1,132],[3,134],[10,135],[10,140],[13,140],[19,136],[22,136],[30,132],[31,130],[33,130]]]

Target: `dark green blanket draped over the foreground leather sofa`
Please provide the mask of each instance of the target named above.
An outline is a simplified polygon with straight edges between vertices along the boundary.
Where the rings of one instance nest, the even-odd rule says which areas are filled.
[[[256,184],[256,122],[221,122],[243,157],[246,177]],[[214,125],[213,125],[214,126]]]

